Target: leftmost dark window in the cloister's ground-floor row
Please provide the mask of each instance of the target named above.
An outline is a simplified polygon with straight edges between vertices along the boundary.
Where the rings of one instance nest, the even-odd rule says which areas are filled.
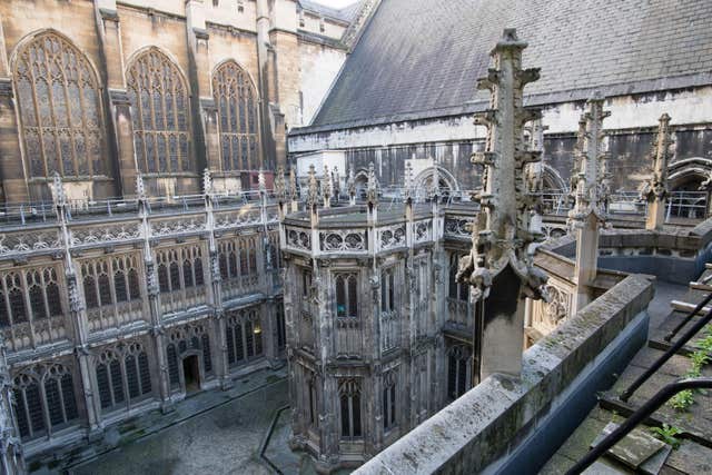
[[[68,426],[79,417],[71,372],[52,364],[29,368],[13,379],[14,413],[23,439]]]

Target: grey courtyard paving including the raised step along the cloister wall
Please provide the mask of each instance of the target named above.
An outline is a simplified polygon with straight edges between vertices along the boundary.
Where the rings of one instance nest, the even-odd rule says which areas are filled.
[[[286,369],[258,370],[234,383],[229,390],[176,403],[171,413],[151,410],[110,427],[62,468],[77,475],[227,474],[247,463],[255,471],[247,473],[269,473],[255,454],[273,413],[286,404]]]

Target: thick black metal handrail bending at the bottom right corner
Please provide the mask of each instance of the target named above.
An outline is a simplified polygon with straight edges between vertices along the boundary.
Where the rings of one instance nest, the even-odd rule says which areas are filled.
[[[617,444],[623,437],[625,437],[631,431],[633,431],[640,423],[650,417],[655,410],[665,404],[675,394],[686,389],[710,389],[712,388],[712,378],[686,378],[680,379],[675,383],[671,383],[660,389],[653,397],[651,397],[645,404],[643,404],[637,410],[625,419],[615,431],[605,436],[595,447],[571,467],[566,475],[578,475],[603,454],[605,454],[611,447]]]

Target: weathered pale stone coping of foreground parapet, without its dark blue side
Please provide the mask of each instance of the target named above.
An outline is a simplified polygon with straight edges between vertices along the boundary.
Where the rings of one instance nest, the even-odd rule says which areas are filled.
[[[524,352],[521,378],[490,376],[355,473],[481,472],[526,436],[652,296],[649,278],[626,277]]]

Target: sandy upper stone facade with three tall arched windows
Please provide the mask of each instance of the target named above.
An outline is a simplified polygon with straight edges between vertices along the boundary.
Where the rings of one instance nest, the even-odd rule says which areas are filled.
[[[3,2],[4,201],[50,199],[55,171],[72,201],[131,196],[138,172],[151,196],[200,192],[205,168],[217,189],[256,189],[259,169],[285,164],[285,127],[313,115],[349,18],[364,14],[304,3]]]

